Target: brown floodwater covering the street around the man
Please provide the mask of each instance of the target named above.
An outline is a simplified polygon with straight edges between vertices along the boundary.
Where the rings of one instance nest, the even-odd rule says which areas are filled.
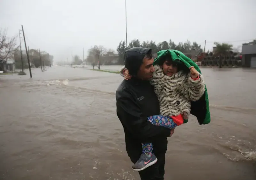
[[[165,179],[255,180],[256,70],[202,74],[212,122],[199,126],[191,116],[176,128]],[[139,179],[116,116],[120,75],[52,66],[32,76],[0,75],[0,179]]]

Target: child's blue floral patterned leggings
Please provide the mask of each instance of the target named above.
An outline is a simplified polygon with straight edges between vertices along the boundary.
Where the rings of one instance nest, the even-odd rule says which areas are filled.
[[[148,117],[148,121],[151,124],[157,126],[164,126],[166,128],[175,128],[177,126],[176,123],[173,122],[171,117],[162,116],[162,115],[155,115]],[[152,143],[141,143],[142,144],[142,153],[148,156],[152,155],[153,151],[153,144]]]

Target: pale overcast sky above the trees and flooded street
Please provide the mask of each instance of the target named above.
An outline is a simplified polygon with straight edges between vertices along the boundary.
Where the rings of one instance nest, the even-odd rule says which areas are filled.
[[[83,47],[85,56],[94,45],[116,50],[125,40],[125,0],[0,0],[0,26],[12,36],[21,24],[29,48],[70,61],[71,49],[81,58]],[[127,0],[127,34],[236,47],[256,38],[256,0]]]

